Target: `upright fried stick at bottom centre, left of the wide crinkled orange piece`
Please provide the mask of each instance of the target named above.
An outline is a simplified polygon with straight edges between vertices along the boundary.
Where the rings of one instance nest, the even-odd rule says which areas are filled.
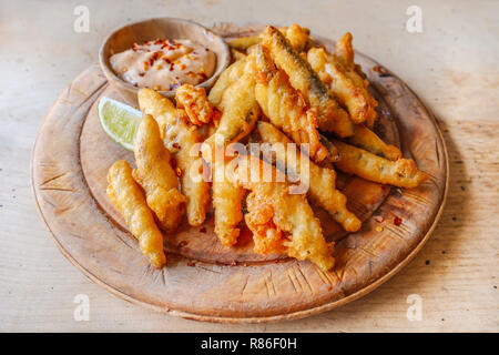
[[[234,183],[230,172],[235,161],[216,161],[213,164],[213,209],[215,210],[215,234],[225,246],[234,245],[240,236],[237,225],[243,220],[243,187]]]

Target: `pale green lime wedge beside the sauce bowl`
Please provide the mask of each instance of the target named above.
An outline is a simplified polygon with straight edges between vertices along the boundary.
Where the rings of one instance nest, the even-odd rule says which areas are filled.
[[[133,151],[133,139],[141,123],[142,112],[106,97],[99,100],[98,111],[104,132],[124,149]]]

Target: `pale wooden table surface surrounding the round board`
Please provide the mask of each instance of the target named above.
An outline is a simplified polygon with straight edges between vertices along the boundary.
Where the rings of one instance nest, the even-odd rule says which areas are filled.
[[[422,32],[409,33],[409,6]],[[86,6],[89,32],[74,31]],[[499,331],[498,1],[2,1],[0,3],[0,331],[452,332]],[[450,159],[447,205],[434,235],[398,275],[345,307],[310,318],[206,324],[143,310],[83,276],[52,242],[30,186],[37,131],[60,91],[95,62],[113,28],[169,16],[297,22],[354,34],[359,51],[391,69],[437,115]],[[77,322],[77,295],[90,300]],[[409,321],[409,295],[421,320]],[[414,297],[414,296],[413,296]]]

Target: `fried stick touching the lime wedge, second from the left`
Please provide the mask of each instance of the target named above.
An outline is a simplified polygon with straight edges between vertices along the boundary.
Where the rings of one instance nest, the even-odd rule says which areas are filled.
[[[136,169],[133,178],[144,189],[147,205],[165,232],[172,233],[182,221],[185,196],[179,191],[179,178],[172,156],[164,146],[156,121],[144,114],[133,144]]]

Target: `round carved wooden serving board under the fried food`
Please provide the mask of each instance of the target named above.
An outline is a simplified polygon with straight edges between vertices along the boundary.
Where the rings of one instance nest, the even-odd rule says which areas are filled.
[[[226,38],[258,27],[218,24]],[[320,39],[329,50],[334,43]],[[223,247],[213,217],[203,226],[184,223],[165,236],[169,263],[149,265],[123,219],[105,196],[105,174],[133,154],[113,143],[100,126],[96,102],[106,95],[129,102],[108,84],[99,67],[82,72],[60,94],[40,129],[31,162],[35,201],[61,252],[98,284],[130,302],[187,318],[266,322],[309,316],[373,291],[406,265],[434,230],[448,185],[448,159],[435,118],[407,85],[374,60],[356,54],[379,100],[376,131],[401,146],[430,175],[418,189],[400,190],[339,174],[338,187],[363,221],[346,235],[316,210],[324,234],[336,240],[336,267],[325,273],[309,262],[253,253],[243,225],[240,243]],[[400,145],[401,142],[401,145]],[[381,216],[381,223],[374,216]],[[394,224],[400,217],[400,225]],[[378,219],[379,220],[379,219]],[[376,231],[383,226],[383,231]]]

